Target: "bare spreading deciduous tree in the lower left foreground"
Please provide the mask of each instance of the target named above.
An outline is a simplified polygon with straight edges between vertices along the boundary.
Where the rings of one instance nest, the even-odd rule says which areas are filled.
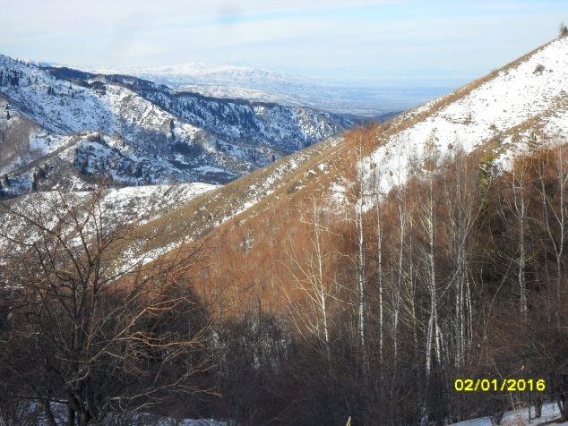
[[[211,313],[189,283],[205,248],[151,255],[103,193],[32,194],[0,211],[1,381],[50,426],[107,424],[207,391]]]

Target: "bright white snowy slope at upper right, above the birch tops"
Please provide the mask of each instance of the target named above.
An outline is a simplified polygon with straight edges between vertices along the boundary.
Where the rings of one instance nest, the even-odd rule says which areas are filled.
[[[441,152],[459,143],[499,156],[522,148],[533,132],[562,137],[567,126],[568,38],[558,38],[485,79],[398,116],[368,161],[384,165],[388,187],[397,175],[406,175],[408,158],[419,157],[431,136]]]

